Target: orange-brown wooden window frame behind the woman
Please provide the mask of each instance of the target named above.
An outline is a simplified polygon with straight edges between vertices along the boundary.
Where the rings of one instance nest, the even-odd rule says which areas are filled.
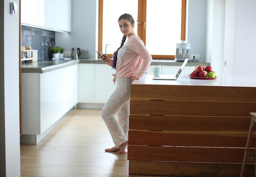
[[[144,22],[146,22],[146,0],[138,0],[138,21],[143,22],[138,25],[138,35],[146,44],[146,29],[144,29]],[[99,46],[98,51],[102,51],[102,39],[103,39],[103,0],[99,0]],[[182,0],[181,11],[181,36],[180,40],[185,41],[186,37],[186,0]],[[112,57],[112,54],[108,54],[108,57]],[[165,59],[174,60],[175,55],[152,55],[153,59]]]

